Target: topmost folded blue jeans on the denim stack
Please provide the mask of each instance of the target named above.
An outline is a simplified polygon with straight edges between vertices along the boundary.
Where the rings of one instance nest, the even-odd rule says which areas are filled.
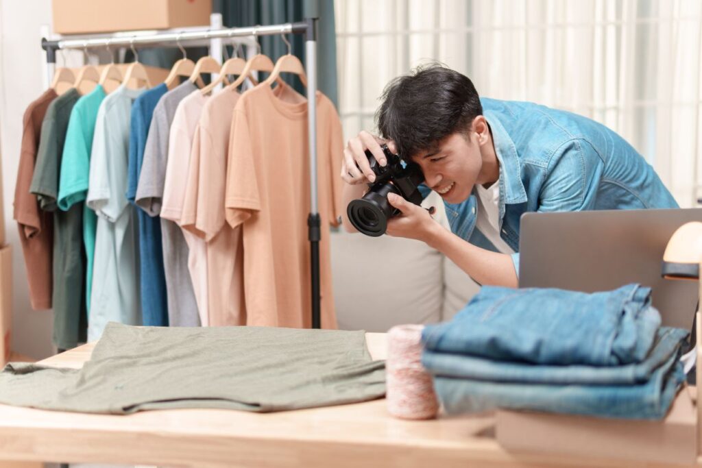
[[[484,286],[453,320],[426,326],[426,350],[497,361],[621,366],[654,344],[661,316],[651,288],[600,293]]]

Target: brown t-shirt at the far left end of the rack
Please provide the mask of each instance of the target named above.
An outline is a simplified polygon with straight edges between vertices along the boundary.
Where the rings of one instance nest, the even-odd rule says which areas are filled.
[[[37,196],[29,192],[37,160],[41,122],[46,109],[58,95],[48,88],[25,110],[20,165],[15,185],[13,218],[20,231],[22,253],[27,266],[29,300],[32,309],[51,309],[53,214],[39,209]]]

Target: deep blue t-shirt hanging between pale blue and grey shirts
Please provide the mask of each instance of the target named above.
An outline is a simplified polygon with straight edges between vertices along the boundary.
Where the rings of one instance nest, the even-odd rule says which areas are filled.
[[[168,87],[159,86],[145,91],[134,101],[129,133],[129,165],[126,197],[134,203],[139,174],[144,160],[144,148],[151,125],[151,118],[161,96]],[[136,209],[139,219],[139,256],[141,281],[141,309],[145,326],[168,326],[168,300],[166,275],[161,246],[161,219],[152,218],[142,208]]]

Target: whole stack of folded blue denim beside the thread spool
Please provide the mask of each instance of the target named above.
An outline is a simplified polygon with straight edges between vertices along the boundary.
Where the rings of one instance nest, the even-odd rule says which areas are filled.
[[[660,419],[684,381],[687,331],[661,327],[651,289],[602,293],[484,286],[423,331],[444,411],[495,408]]]

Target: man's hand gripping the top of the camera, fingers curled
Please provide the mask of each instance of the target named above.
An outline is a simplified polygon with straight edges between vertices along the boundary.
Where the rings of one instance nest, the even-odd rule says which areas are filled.
[[[392,140],[383,140],[366,131],[361,131],[351,138],[345,149],[344,159],[341,163],[341,178],[349,185],[367,184],[375,182],[376,176],[369,166],[366,149],[369,149],[380,166],[385,166],[385,154],[380,145],[388,145],[391,152],[396,153],[397,147]]]

